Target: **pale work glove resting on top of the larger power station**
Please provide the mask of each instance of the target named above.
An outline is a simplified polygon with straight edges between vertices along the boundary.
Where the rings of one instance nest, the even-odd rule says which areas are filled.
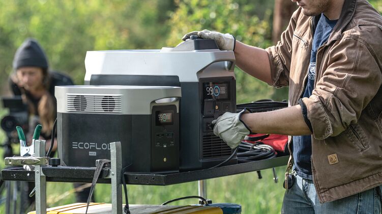
[[[211,39],[215,40],[216,44],[218,45],[220,50],[227,50],[227,51],[233,51],[235,48],[235,38],[233,35],[229,33],[220,33],[216,31],[210,31],[210,30],[202,30],[202,31],[192,31],[189,33],[186,33],[182,40],[186,41],[191,37],[191,35],[197,35],[201,39]]]

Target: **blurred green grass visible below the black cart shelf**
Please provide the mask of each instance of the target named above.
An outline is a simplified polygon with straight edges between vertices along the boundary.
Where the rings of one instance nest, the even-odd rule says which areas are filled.
[[[7,112],[0,110],[0,118]],[[5,139],[0,132],[0,142]],[[15,147],[18,150],[18,147]],[[0,148],[0,157],[3,150]],[[4,160],[0,160],[4,167]],[[259,180],[256,172],[231,175],[207,180],[207,195],[214,203],[237,203],[242,205],[242,213],[279,213],[284,194],[282,180],[285,167],[277,167],[279,183],[273,182],[272,169],[262,170]],[[111,203],[110,185],[97,184],[96,202]],[[197,182],[170,186],[128,185],[130,204],[161,204],[178,197],[197,195]],[[71,183],[53,183],[47,185],[48,207],[75,203],[75,193]],[[171,203],[171,205],[187,205],[197,203],[197,199],[188,199]],[[0,213],[5,213],[4,204],[0,205]]]

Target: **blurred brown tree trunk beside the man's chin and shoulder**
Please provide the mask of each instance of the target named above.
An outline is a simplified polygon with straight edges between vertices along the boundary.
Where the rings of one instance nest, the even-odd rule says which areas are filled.
[[[275,0],[272,30],[273,44],[277,44],[277,42],[280,41],[281,33],[285,30],[286,26],[288,26],[290,17],[296,9],[296,3],[289,0]]]

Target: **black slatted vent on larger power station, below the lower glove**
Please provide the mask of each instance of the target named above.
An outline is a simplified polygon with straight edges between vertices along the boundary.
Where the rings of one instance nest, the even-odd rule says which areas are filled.
[[[203,158],[217,158],[231,155],[231,148],[213,134],[203,136]]]

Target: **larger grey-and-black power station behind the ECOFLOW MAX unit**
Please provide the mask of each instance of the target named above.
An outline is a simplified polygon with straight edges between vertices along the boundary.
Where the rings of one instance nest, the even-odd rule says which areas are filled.
[[[235,62],[233,51],[202,39],[161,50],[87,51],[85,85],[181,87],[180,168],[209,168],[232,153],[210,124],[225,112],[236,113]],[[236,163],[234,157],[226,165]]]

